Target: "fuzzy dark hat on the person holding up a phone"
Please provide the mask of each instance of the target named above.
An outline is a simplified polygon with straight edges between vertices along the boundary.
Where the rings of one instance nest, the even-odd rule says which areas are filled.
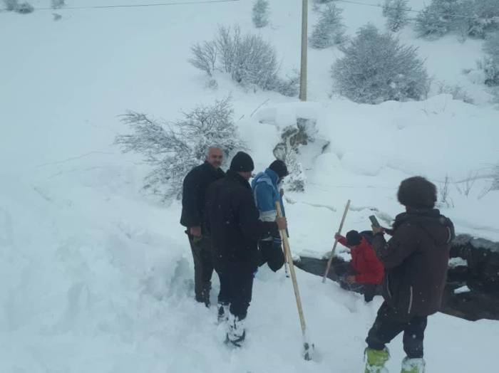
[[[437,191],[435,184],[428,182],[424,177],[409,177],[398,187],[397,198],[403,206],[414,209],[433,209]]]

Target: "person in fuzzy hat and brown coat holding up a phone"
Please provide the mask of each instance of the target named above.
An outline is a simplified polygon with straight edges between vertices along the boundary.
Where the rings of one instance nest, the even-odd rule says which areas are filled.
[[[423,177],[403,180],[391,239],[373,226],[373,247],[385,267],[384,303],[366,338],[366,372],[384,372],[386,343],[403,332],[402,373],[424,372],[423,337],[428,315],[441,306],[449,251],[454,238],[450,219],[433,209],[436,187]]]

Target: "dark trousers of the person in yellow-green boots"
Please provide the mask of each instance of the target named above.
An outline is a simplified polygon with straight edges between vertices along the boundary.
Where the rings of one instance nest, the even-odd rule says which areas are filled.
[[[384,302],[378,310],[374,325],[366,338],[367,346],[383,350],[399,333],[403,332],[403,350],[409,359],[423,357],[423,339],[426,329],[426,316],[413,316],[409,319]]]

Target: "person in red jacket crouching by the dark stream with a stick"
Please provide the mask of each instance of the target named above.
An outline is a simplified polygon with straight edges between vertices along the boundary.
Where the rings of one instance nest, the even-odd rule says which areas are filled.
[[[341,245],[350,248],[351,273],[344,279],[349,284],[359,284],[359,290],[364,294],[364,300],[371,302],[376,294],[376,287],[384,278],[383,264],[376,257],[371,243],[358,231],[349,231],[346,237],[336,233],[334,238]]]

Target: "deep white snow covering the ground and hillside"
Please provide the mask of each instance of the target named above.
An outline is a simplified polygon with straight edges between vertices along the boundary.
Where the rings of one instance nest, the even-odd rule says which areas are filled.
[[[416,8],[419,1],[411,3]],[[381,9],[339,5],[349,33],[366,21],[384,22]],[[161,206],[144,196],[147,167],[113,146],[125,130],[117,115],[127,109],[173,120],[181,110],[232,93],[257,169],[272,160],[279,127],[297,117],[317,120],[317,136],[330,145],[309,165],[306,193],[287,194],[296,254],[329,251],[347,199],[346,229],[368,228],[375,210],[385,222],[393,218],[401,211],[398,183],[413,174],[439,185],[447,175],[453,182],[483,177],[468,196],[465,182],[457,184],[461,192],[451,184],[453,207],[443,212],[459,233],[499,241],[499,192],[482,196],[499,159],[499,111],[488,105],[483,86],[461,74],[474,68],[479,41],[428,42],[414,39],[410,29],[401,33],[420,46],[432,74],[466,84],[477,106],[448,95],[376,106],[329,98],[336,50],[310,51],[309,103],[245,92],[225,77],[217,77],[217,90],[205,88],[205,76],[187,63],[191,43],[211,38],[218,24],[252,29],[251,6],[66,9],[56,22],[52,11],[0,13],[0,372],[362,371],[364,337],[381,299],[364,305],[301,270],[313,362],[299,356],[299,320],[282,271],[257,273],[247,346],[222,345],[215,309],[192,300],[179,204]],[[299,1],[274,0],[271,11],[272,25],[261,32],[289,72],[299,65]],[[498,322],[437,314],[428,322],[427,370],[493,372],[498,337]],[[396,372],[401,338],[390,347],[389,369]]]

